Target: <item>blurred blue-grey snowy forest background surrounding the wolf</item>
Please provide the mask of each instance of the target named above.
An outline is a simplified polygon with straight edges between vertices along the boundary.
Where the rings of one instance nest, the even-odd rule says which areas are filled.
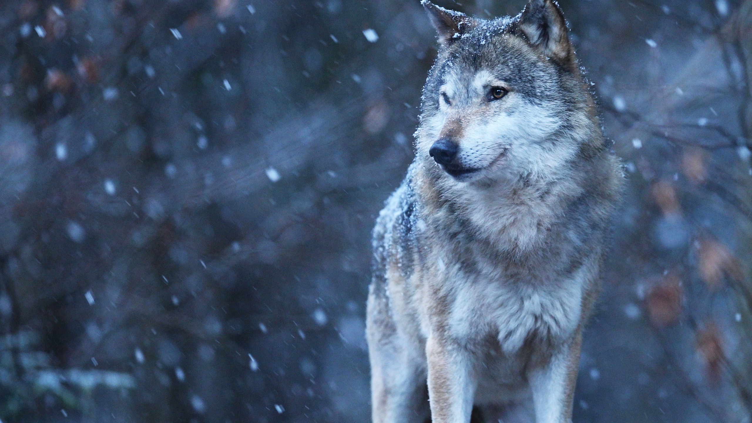
[[[752,1],[560,5],[629,179],[575,421],[750,423]],[[368,421],[435,53],[417,0],[3,0],[0,419]]]

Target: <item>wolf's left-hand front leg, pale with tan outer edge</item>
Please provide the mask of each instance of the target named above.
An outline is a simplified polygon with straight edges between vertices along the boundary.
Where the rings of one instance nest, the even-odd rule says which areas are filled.
[[[429,336],[426,358],[432,423],[467,423],[478,385],[472,354],[450,340]]]

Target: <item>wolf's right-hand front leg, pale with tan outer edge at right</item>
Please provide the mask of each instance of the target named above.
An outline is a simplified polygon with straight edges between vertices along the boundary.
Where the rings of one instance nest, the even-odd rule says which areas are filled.
[[[580,361],[582,332],[553,351],[546,364],[528,373],[536,423],[572,423],[572,400]]]

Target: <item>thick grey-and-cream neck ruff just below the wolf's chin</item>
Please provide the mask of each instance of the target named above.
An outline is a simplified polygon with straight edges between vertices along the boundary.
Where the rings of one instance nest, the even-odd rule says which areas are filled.
[[[416,218],[461,242],[484,242],[494,254],[523,258],[551,242],[549,229],[584,189],[577,179],[480,180],[457,183],[434,166],[418,168]],[[454,229],[451,229],[450,227]],[[461,233],[456,233],[461,230]],[[538,251],[535,251],[536,248]],[[531,257],[532,258],[532,257]]]

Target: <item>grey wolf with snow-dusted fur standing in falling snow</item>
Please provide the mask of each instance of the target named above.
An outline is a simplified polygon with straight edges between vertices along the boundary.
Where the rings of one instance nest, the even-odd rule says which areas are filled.
[[[494,20],[422,5],[438,57],[373,231],[373,421],[571,422],[620,160],[556,2]]]

